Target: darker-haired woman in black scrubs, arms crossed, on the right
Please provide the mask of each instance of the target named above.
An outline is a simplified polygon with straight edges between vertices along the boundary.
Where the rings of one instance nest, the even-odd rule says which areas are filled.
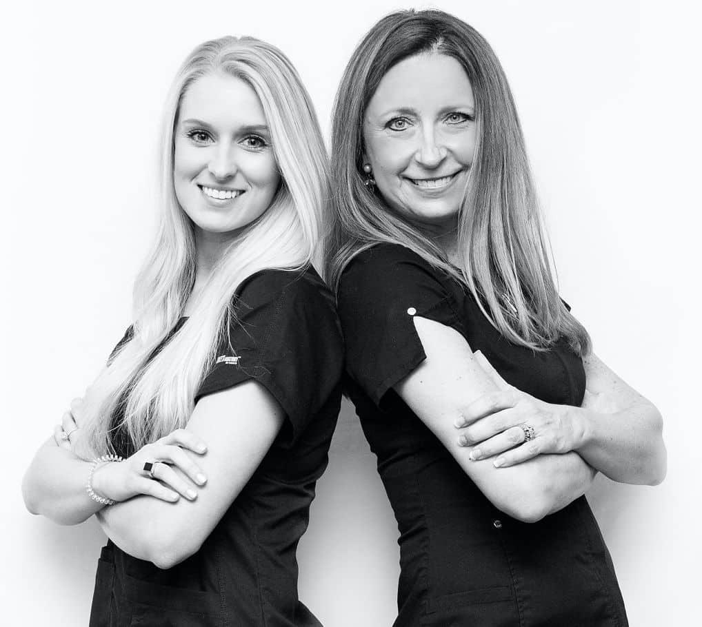
[[[583,493],[665,475],[661,416],[557,292],[524,138],[485,39],[392,13],[332,125],[348,393],[399,527],[397,626],[625,625]]]

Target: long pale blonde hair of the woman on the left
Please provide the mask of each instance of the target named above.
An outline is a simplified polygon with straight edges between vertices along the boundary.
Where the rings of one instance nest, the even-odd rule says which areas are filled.
[[[187,324],[168,339],[183,316],[196,265],[192,222],[173,187],[173,135],[188,88],[216,72],[246,81],[258,96],[282,183],[265,213],[227,246]],[[127,433],[138,450],[185,426],[215,351],[236,320],[237,287],[261,269],[300,270],[320,255],[328,197],[324,143],[300,77],[274,46],[251,37],[223,37],[193,50],[166,100],[161,157],[159,227],[135,281],[133,339],[86,393],[87,454],[114,452],[115,429]],[[112,424],[120,415],[121,422]]]

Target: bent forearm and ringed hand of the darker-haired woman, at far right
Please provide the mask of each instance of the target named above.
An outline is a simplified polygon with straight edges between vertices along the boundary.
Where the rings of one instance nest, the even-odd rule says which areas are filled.
[[[476,358],[494,372],[482,355]],[[545,403],[506,386],[470,406],[459,444],[472,444],[471,457],[494,457],[515,466],[545,453],[577,452],[610,479],[656,485],[665,477],[662,419],[656,407],[594,355],[583,359],[585,398],[581,407]],[[534,429],[524,442],[519,425]]]

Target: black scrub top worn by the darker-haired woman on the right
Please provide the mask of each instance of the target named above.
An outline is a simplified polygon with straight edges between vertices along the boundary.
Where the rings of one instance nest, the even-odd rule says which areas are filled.
[[[585,497],[538,523],[511,518],[392,389],[425,359],[413,315],[456,329],[517,388],[548,403],[580,405],[585,371],[567,342],[544,352],[512,344],[468,288],[399,245],[376,245],[352,259],[338,312],[347,391],[399,527],[395,626],[627,625]]]

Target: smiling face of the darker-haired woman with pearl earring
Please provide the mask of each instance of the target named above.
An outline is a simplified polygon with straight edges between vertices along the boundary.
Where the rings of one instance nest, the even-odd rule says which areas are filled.
[[[366,108],[364,162],[386,203],[420,229],[455,226],[475,154],[475,101],[454,58],[393,66]]]

